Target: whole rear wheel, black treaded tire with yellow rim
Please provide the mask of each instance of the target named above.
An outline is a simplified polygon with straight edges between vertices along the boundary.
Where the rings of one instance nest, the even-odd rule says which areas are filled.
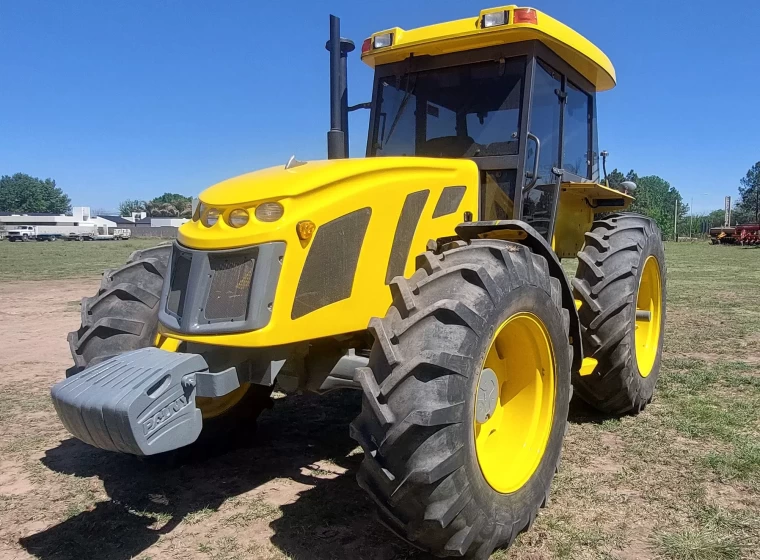
[[[578,259],[573,287],[582,302],[583,348],[598,365],[573,384],[602,412],[638,413],[652,400],[662,359],[662,234],[651,218],[613,214],[594,222]]]

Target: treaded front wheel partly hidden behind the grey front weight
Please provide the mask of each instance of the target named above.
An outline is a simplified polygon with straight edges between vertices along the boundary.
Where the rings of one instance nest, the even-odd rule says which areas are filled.
[[[153,346],[172,245],[135,251],[127,264],[106,270],[98,294],[82,299],[82,325],[69,333],[74,367],[67,376],[118,354]],[[272,407],[271,387],[244,384],[218,398],[198,397],[203,414],[199,443],[228,446],[255,431],[255,420]]]

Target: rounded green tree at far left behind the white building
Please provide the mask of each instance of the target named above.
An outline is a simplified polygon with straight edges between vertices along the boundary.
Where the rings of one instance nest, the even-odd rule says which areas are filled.
[[[53,179],[38,179],[26,173],[0,178],[0,212],[71,212],[71,199],[55,186]]]

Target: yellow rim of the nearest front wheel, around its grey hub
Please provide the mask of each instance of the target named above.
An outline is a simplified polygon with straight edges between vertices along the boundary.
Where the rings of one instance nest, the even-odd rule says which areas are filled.
[[[554,351],[546,327],[518,313],[496,331],[483,369],[498,380],[493,414],[475,420],[475,451],[486,482],[508,494],[522,488],[541,463],[554,420]]]

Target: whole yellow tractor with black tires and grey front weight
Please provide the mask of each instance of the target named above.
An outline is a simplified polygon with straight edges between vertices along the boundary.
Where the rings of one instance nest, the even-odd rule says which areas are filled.
[[[614,414],[652,399],[661,234],[600,181],[615,71],[572,29],[504,6],[380,31],[349,107],[353,48],[331,17],[329,159],[212,186],[173,245],[107,271],[53,401],[81,440],[153,455],[250,430],[274,387],[359,389],[384,523],[486,558],[546,504],[573,388]],[[367,157],[347,159],[357,108]]]

